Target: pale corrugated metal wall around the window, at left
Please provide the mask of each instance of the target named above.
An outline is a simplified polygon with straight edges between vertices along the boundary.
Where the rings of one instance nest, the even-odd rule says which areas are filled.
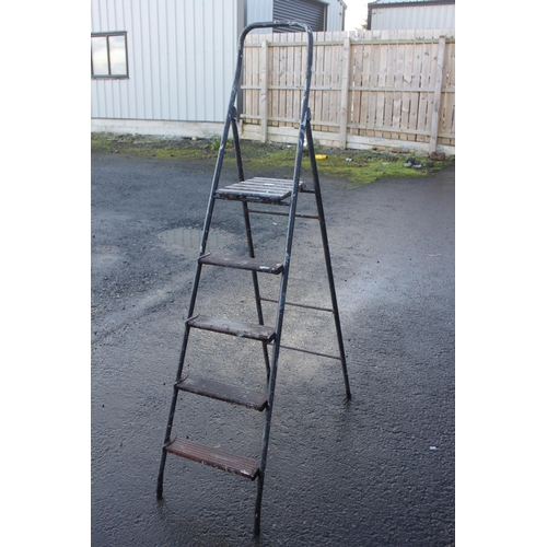
[[[91,81],[92,118],[224,121],[241,1],[92,0],[91,32],[127,31],[129,63]]]

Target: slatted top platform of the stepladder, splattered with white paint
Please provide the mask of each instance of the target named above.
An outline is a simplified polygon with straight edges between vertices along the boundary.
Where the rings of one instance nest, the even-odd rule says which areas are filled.
[[[238,199],[276,203],[292,194],[292,181],[284,178],[254,177],[219,188],[214,197],[220,199]],[[299,188],[304,188],[304,181],[300,181]]]

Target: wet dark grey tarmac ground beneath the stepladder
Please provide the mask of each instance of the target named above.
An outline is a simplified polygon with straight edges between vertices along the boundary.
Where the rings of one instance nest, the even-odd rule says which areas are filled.
[[[352,399],[337,361],[281,352],[259,538],[244,478],[170,456],[155,499],[212,171],[92,154],[92,545],[454,545],[453,168],[371,185],[322,178]],[[282,176],[272,171],[260,175]],[[244,243],[234,206],[216,209],[219,248]],[[257,220],[257,248],[275,253],[283,222]],[[251,279],[226,271],[208,270],[199,304],[243,317]],[[302,221],[288,300],[325,304],[324,290],[318,228]],[[336,352],[328,317],[309,312],[287,314],[286,344]],[[193,370],[264,385],[253,342],[193,342]],[[184,394],[178,431],[257,455],[264,416],[207,400]]]

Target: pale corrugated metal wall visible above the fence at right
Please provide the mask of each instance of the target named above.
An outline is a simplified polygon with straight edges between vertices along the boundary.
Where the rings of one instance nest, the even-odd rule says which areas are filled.
[[[371,28],[411,30],[411,28],[454,28],[455,4],[438,5],[398,5],[386,8],[379,5],[371,12]]]

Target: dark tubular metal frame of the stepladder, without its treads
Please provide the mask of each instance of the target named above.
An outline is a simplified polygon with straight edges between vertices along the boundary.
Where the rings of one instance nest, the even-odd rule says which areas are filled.
[[[333,307],[330,310],[327,310],[327,311],[333,312],[333,314],[334,314],[336,336],[337,336],[338,348],[339,348],[339,360],[341,363],[341,369],[342,369],[342,374],[344,374],[344,383],[345,383],[345,388],[346,388],[346,397],[348,399],[351,398],[348,371],[347,371],[347,363],[346,363],[346,354],[345,354],[345,350],[344,350],[344,340],[342,340],[342,335],[341,335],[338,303],[337,303],[337,299],[336,299],[335,282],[334,282],[334,277],[333,277],[330,252],[329,252],[327,231],[326,231],[326,224],[325,224],[323,200],[322,200],[322,195],[321,195],[319,178],[318,178],[318,172],[317,172],[317,164],[316,164],[316,160],[315,160],[314,143],[313,143],[313,136],[312,136],[312,128],[311,128],[311,112],[309,108],[309,98],[310,98],[312,65],[313,65],[313,33],[312,33],[311,27],[307,24],[303,24],[303,23],[294,22],[294,21],[286,21],[286,22],[272,21],[272,22],[253,23],[253,24],[247,25],[243,30],[242,34],[240,35],[235,77],[234,77],[234,82],[233,82],[233,86],[232,86],[232,92],[230,95],[228,114],[226,114],[224,130],[222,133],[221,143],[220,143],[219,154],[217,158],[214,175],[212,178],[211,191],[209,195],[207,214],[206,214],[206,219],[205,219],[205,223],[203,223],[201,244],[200,244],[200,248],[199,248],[199,258],[198,258],[198,263],[197,263],[197,267],[196,267],[196,274],[195,274],[194,284],[193,284],[191,295],[190,295],[190,303],[189,303],[189,307],[188,307],[188,315],[187,315],[188,319],[185,322],[185,330],[184,330],[183,344],[182,344],[182,349],[181,349],[181,357],[178,360],[176,382],[175,382],[175,385],[173,388],[173,397],[172,397],[172,403],[171,403],[168,422],[167,422],[167,428],[166,428],[166,432],[165,432],[164,446],[162,450],[160,472],[158,475],[158,485],[156,485],[156,498],[161,499],[163,497],[163,476],[164,476],[164,468],[165,468],[165,462],[166,462],[166,456],[167,456],[166,446],[171,442],[172,427],[173,427],[173,421],[174,421],[174,417],[175,417],[175,409],[176,409],[178,391],[179,391],[179,387],[177,387],[177,383],[183,377],[183,368],[184,368],[185,356],[186,356],[186,350],[187,350],[187,345],[188,345],[189,331],[190,331],[190,327],[191,327],[190,319],[194,318],[194,310],[195,310],[195,305],[196,305],[199,281],[200,281],[200,277],[201,277],[201,268],[202,268],[201,259],[207,256],[207,254],[206,254],[207,241],[208,241],[208,236],[209,236],[209,230],[211,226],[214,202],[216,202],[216,199],[218,199],[217,191],[219,188],[220,173],[222,170],[222,163],[223,163],[223,159],[224,159],[225,147],[228,143],[230,128],[232,129],[232,135],[233,135],[233,142],[234,142],[234,149],[235,149],[235,154],[236,154],[238,178],[240,178],[240,182],[245,181],[244,173],[243,173],[243,162],[242,162],[242,155],[241,155],[237,121],[236,121],[237,112],[235,108],[235,101],[236,101],[238,82],[240,82],[240,78],[241,78],[242,63],[243,63],[244,42],[245,42],[246,35],[249,32],[257,30],[257,28],[270,28],[270,27],[271,28],[274,28],[274,27],[302,28],[307,34],[307,65],[306,65],[304,94],[303,94],[303,100],[302,100],[302,110],[301,110],[301,117],[300,117],[298,148],[296,148],[296,155],[295,155],[295,161],[294,161],[292,194],[291,194],[291,199],[290,199],[290,210],[288,213],[289,221],[288,221],[288,228],[287,228],[286,253],[284,253],[283,265],[282,265],[282,270],[281,270],[278,313],[277,313],[276,327],[275,327],[275,338],[274,338],[271,364],[270,364],[270,360],[269,360],[269,356],[268,356],[268,342],[264,341],[264,340],[261,342],[265,365],[266,365],[266,373],[267,373],[269,384],[268,384],[267,405],[265,407],[266,424],[265,424],[264,434],[263,434],[261,457],[260,457],[259,467],[258,467],[258,470],[256,473],[256,476],[249,477],[253,479],[254,478],[257,479],[257,493],[256,493],[255,516],[254,516],[254,533],[255,533],[255,535],[258,535],[260,532],[261,499],[263,499],[264,480],[265,480],[265,472],[266,472],[266,463],[267,463],[267,454],[268,454],[271,417],[272,417],[272,409],[274,409],[274,396],[275,396],[275,389],[276,389],[276,379],[277,379],[279,353],[280,353],[281,347],[283,347],[283,346],[281,346],[281,333],[282,333],[282,326],[283,326],[284,309],[286,309],[286,305],[288,304],[287,303],[287,288],[288,288],[288,280],[289,280],[289,268],[290,268],[290,260],[291,260],[294,224],[295,224],[295,218],[298,217],[296,216],[296,203],[298,203],[298,197],[299,197],[300,191],[310,191],[310,193],[315,194],[317,217],[309,217],[309,218],[316,218],[319,221],[321,235],[322,235],[324,256],[325,256],[325,265],[326,265],[326,269],[327,269],[330,300],[331,300],[331,305],[333,305]],[[314,182],[313,190],[302,190],[300,188],[300,184],[301,184],[300,174],[301,174],[301,166],[302,166],[302,156],[304,154],[304,138],[307,140],[309,155],[310,155],[310,160],[311,160],[311,167],[312,167],[313,182]],[[243,201],[243,214],[245,218],[245,229],[246,229],[246,235],[247,235],[248,256],[251,258],[254,258],[254,245],[253,245],[253,237],[252,237],[252,232],[251,232],[251,221],[249,221],[251,210],[248,208],[247,200],[242,199],[242,201]],[[254,212],[258,212],[258,211],[254,211]],[[259,325],[264,325],[261,301],[268,300],[268,299],[260,298],[259,286],[258,286],[258,276],[257,276],[256,270],[252,270],[252,277],[253,277],[253,287],[254,287],[254,293],[255,293],[258,323],[259,323]],[[294,304],[294,305],[298,305],[298,304]],[[304,306],[304,307],[306,307],[306,306]],[[307,306],[307,307],[310,307],[310,306]],[[325,310],[325,309],[322,309],[322,310]],[[283,348],[287,348],[287,347],[283,347]],[[296,349],[296,348],[288,348],[288,349]],[[305,350],[301,350],[301,351],[305,351]],[[305,352],[314,353],[313,351],[305,351]],[[321,354],[321,353],[316,353],[316,354]],[[325,356],[325,357],[331,357],[331,356]],[[338,359],[338,358],[335,358],[335,359]]]

